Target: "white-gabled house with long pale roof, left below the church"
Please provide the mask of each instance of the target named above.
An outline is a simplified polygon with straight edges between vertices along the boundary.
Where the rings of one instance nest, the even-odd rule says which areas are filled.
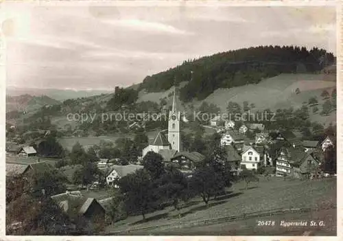
[[[131,174],[142,168],[143,165],[113,165],[112,167],[104,170],[106,183],[108,185],[113,185],[113,181],[115,181],[116,179],[121,179],[123,176]]]

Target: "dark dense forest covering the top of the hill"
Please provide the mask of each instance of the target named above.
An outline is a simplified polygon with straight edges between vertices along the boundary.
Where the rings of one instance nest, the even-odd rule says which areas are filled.
[[[165,91],[188,81],[180,89],[180,100],[203,100],[218,88],[252,84],[280,73],[316,73],[333,64],[335,56],[324,49],[294,46],[261,46],[226,51],[147,76],[139,90]]]

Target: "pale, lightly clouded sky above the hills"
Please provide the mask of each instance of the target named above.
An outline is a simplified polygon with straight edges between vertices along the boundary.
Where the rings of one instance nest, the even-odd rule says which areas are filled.
[[[0,15],[7,87],[114,89],[258,45],[336,53],[333,7],[30,6]]]

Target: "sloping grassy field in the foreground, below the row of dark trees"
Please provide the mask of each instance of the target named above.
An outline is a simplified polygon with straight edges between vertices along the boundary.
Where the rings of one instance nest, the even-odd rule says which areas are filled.
[[[180,219],[178,218],[177,211],[167,207],[164,210],[148,214],[146,216],[148,222],[142,222],[141,216],[133,216],[116,222],[115,225],[108,227],[107,231],[175,225],[221,216],[248,214],[267,209],[302,207],[320,209],[320,207],[336,205],[336,179],[327,179],[325,181],[284,181],[283,178],[274,177],[270,181],[263,179],[259,183],[252,183],[248,190],[245,190],[244,186],[245,183],[235,183],[230,188],[228,194],[218,197],[217,200],[211,200],[208,209],[206,209],[200,198],[194,198],[182,207]],[[311,214],[307,216],[311,218]],[[217,229],[220,229],[220,226],[213,227],[214,231],[217,231]],[[165,232],[168,231],[170,233],[172,230],[165,230]],[[156,231],[152,230],[149,232],[158,233],[158,229],[156,228]]]

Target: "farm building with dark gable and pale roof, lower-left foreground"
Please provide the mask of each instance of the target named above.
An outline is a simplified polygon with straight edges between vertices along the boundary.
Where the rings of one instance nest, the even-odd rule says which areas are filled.
[[[51,196],[62,210],[69,216],[82,215],[93,222],[104,220],[105,209],[95,198],[86,198],[80,191],[65,192]]]

